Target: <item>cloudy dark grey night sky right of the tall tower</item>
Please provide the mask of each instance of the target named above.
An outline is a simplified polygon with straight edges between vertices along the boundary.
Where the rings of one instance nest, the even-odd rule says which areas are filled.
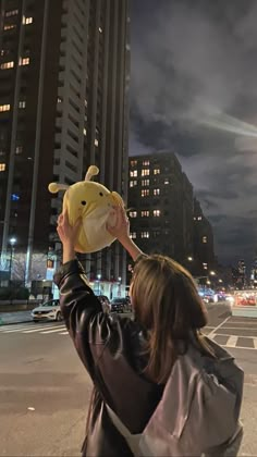
[[[256,24],[256,0],[131,0],[130,155],[178,155],[224,264],[257,248]]]

